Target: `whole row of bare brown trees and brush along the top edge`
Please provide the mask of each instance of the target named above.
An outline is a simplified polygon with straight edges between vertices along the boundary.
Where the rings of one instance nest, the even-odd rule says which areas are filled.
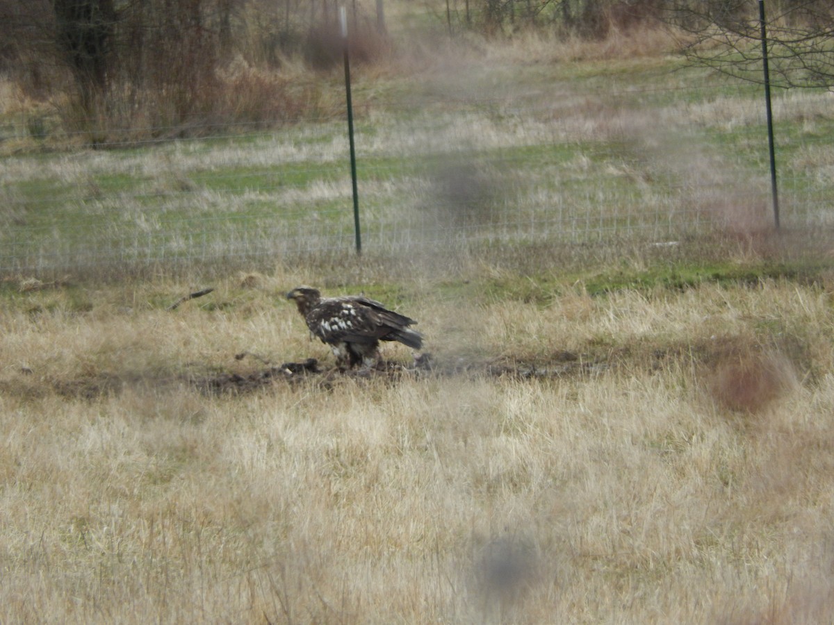
[[[384,1],[347,4],[358,61],[393,49]],[[686,32],[682,46],[694,62],[753,76],[761,60],[751,0],[427,2],[435,2],[426,5],[435,27],[452,35],[536,29],[593,39],[664,24]],[[831,82],[831,3],[768,6],[783,82]],[[31,97],[63,94],[64,127],[93,142],[114,125],[170,134],[210,128],[220,117],[274,123],[311,100],[274,70],[288,58],[311,68],[339,62],[338,7],[338,0],[0,0],[0,71]]]

